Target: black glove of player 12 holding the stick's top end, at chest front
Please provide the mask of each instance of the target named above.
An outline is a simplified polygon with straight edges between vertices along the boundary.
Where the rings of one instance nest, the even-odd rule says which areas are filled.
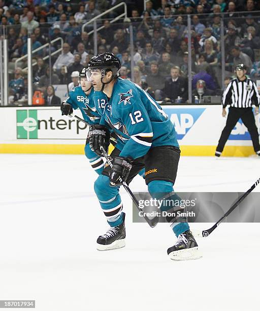
[[[106,153],[108,152],[110,132],[108,128],[102,125],[93,125],[89,128],[89,147],[96,154],[102,156],[100,147],[102,146]]]

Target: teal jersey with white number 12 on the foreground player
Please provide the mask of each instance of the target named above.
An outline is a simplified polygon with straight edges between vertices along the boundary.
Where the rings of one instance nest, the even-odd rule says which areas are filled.
[[[118,78],[110,99],[95,91],[93,101],[101,115],[100,124],[119,137],[116,147],[121,157],[142,157],[150,147],[179,147],[173,123],[139,85]]]

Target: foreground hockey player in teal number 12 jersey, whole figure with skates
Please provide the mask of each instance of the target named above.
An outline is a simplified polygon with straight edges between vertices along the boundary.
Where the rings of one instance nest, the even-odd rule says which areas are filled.
[[[94,190],[107,217],[110,230],[99,236],[98,250],[112,250],[125,245],[122,202],[119,195],[120,177],[127,183],[145,167],[145,181],[153,198],[175,201],[174,194],[180,149],[171,120],[161,107],[138,85],[119,77],[120,60],[112,53],[92,57],[87,77],[96,92],[93,96],[96,111],[102,115],[100,125],[89,129],[90,147],[101,155],[100,147],[108,148],[110,131],[118,136],[111,153],[112,169],[106,166],[96,179]],[[107,98],[101,96],[103,91]],[[165,204],[163,210],[172,206]],[[174,213],[175,212],[175,213]],[[168,248],[173,260],[200,258],[198,244],[183,217],[174,209],[167,218],[178,237]]]

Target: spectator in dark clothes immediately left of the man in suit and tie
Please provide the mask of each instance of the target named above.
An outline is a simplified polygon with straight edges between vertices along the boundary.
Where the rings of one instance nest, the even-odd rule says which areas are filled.
[[[150,73],[147,75],[146,82],[154,91],[155,99],[160,98],[160,90],[164,87],[164,77],[159,74],[158,64],[156,61],[150,63]]]

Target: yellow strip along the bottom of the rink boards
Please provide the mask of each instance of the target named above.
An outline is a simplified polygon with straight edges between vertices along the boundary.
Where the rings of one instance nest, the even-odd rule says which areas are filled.
[[[212,156],[216,146],[181,146],[181,155]],[[109,146],[109,153],[113,146]],[[84,145],[66,144],[0,144],[0,153],[84,154]],[[254,154],[252,146],[225,146],[223,157],[248,157]]]

